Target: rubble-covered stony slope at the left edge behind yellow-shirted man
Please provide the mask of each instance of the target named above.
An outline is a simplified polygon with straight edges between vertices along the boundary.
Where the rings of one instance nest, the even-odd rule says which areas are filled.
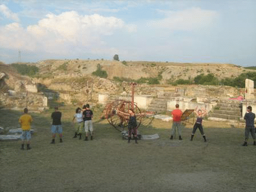
[[[37,93],[37,85],[29,77],[0,62],[0,107],[42,110],[46,106],[47,98]]]

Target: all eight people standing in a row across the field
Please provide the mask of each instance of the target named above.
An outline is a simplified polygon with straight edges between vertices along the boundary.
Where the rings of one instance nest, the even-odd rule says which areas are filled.
[[[171,129],[171,136],[170,139],[174,138],[175,131],[178,129],[178,135],[179,135],[179,140],[182,140],[181,137],[181,117],[182,117],[182,111],[179,109],[179,105],[175,105],[176,109],[172,111],[173,115],[173,127]],[[25,145],[25,140],[27,140],[27,150],[30,150],[30,139],[31,139],[31,122],[33,121],[31,115],[28,114],[28,109],[24,109],[24,114],[19,118],[19,123],[21,124],[22,127],[22,145],[21,149],[24,150],[24,145]],[[138,138],[137,138],[137,120],[136,120],[136,115],[134,113],[133,109],[129,109],[129,113],[124,113],[123,111],[117,110],[118,113],[126,115],[127,119],[129,119],[128,122],[128,143],[130,143],[131,140],[131,135],[134,135],[135,143],[138,143]],[[190,141],[193,141],[193,137],[195,135],[195,131],[199,129],[204,141],[206,142],[206,137],[205,133],[203,132],[203,127],[202,127],[202,120],[203,117],[207,114],[206,110],[201,110],[201,109],[195,109],[194,113],[197,115],[197,120],[193,126],[193,131],[191,134]],[[62,140],[62,125],[61,125],[61,116],[62,113],[58,111],[58,107],[55,107],[55,111],[51,114],[51,118],[53,119],[53,123],[51,125],[51,133],[52,133],[52,141],[51,143],[55,143],[55,137],[56,134],[59,134],[59,142],[63,142]],[[73,123],[74,120],[76,119],[77,122],[75,124],[75,135],[74,138],[77,138],[77,135],[79,135],[79,139],[82,138],[83,130],[85,131],[85,141],[88,141],[89,137],[89,131],[91,133],[90,139],[93,140],[93,111],[90,110],[90,105],[84,105],[83,109],[81,110],[79,107],[75,110],[75,115],[73,118]],[[249,139],[249,134],[251,133],[251,136],[253,137],[253,145],[256,145],[255,141],[255,127],[254,127],[254,119],[255,119],[255,114],[252,112],[252,107],[248,106],[247,107],[247,113],[244,116],[246,126],[245,126],[245,142],[243,143],[242,146],[247,146],[247,141]]]

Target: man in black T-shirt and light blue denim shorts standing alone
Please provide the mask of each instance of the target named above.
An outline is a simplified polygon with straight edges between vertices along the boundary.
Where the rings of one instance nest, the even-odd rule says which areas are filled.
[[[58,111],[58,107],[55,107],[55,111],[51,114],[53,119],[53,125],[51,125],[51,133],[53,133],[52,144],[55,143],[56,133],[59,134],[59,142],[62,143],[62,125],[61,125],[61,112]]]

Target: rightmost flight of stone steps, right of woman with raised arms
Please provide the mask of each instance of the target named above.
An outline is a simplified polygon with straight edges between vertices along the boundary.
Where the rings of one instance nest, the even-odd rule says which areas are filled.
[[[210,117],[239,121],[242,117],[241,102],[231,99],[219,99]]]

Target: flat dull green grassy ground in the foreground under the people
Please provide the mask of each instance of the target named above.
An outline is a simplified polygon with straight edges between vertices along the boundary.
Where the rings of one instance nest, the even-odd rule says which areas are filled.
[[[50,114],[31,114],[37,134],[31,150],[19,141],[0,142],[0,191],[255,191],[256,146],[242,147],[244,129],[205,122],[207,142],[199,131],[190,141],[170,140],[171,122],[155,119],[142,134],[159,139],[127,143],[94,111],[95,139],[73,138],[74,107],[61,108],[63,143],[50,144]],[[21,113],[0,110],[2,127],[18,127]],[[225,125],[225,124],[224,124]]]

